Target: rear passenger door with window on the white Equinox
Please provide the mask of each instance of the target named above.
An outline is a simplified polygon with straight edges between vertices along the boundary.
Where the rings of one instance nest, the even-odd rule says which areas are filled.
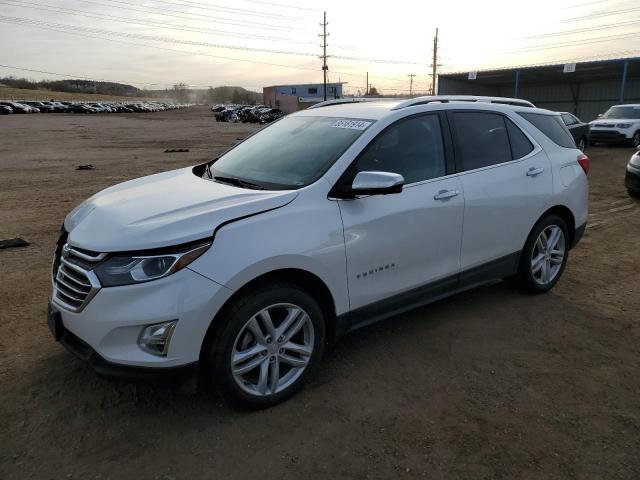
[[[460,288],[515,272],[552,194],[546,153],[506,115],[450,111],[465,198]]]

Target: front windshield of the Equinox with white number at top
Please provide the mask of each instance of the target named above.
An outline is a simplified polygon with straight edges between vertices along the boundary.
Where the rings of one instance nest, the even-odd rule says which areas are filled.
[[[285,117],[260,130],[211,165],[211,177],[240,179],[266,189],[297,189],[316,181],[372,120]]]

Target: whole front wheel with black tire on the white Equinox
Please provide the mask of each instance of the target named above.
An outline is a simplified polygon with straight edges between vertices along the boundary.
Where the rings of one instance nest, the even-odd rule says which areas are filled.
[[[286,319],[291,319],[289,328]],[[295,284],[252,290],[219,320],[224,323],[207,353],[213,384],[232,406],[256,410],[283,402],[302,388],[322,357],[322,309]]]

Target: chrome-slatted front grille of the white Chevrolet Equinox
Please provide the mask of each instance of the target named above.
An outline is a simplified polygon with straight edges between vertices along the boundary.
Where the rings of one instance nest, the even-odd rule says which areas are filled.
[[[107,254],[89,252],[66,243],[59,255],[54,261],[57,265],[53,278],[54,301],[67,310],[79,312],[100,289],[100,282],[92,270]]]

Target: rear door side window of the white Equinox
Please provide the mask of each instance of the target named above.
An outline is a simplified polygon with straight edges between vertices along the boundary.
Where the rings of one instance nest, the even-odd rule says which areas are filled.
[[[454,112],[456,155],[464,171],[511,161],[511,146],[502,115]]]

